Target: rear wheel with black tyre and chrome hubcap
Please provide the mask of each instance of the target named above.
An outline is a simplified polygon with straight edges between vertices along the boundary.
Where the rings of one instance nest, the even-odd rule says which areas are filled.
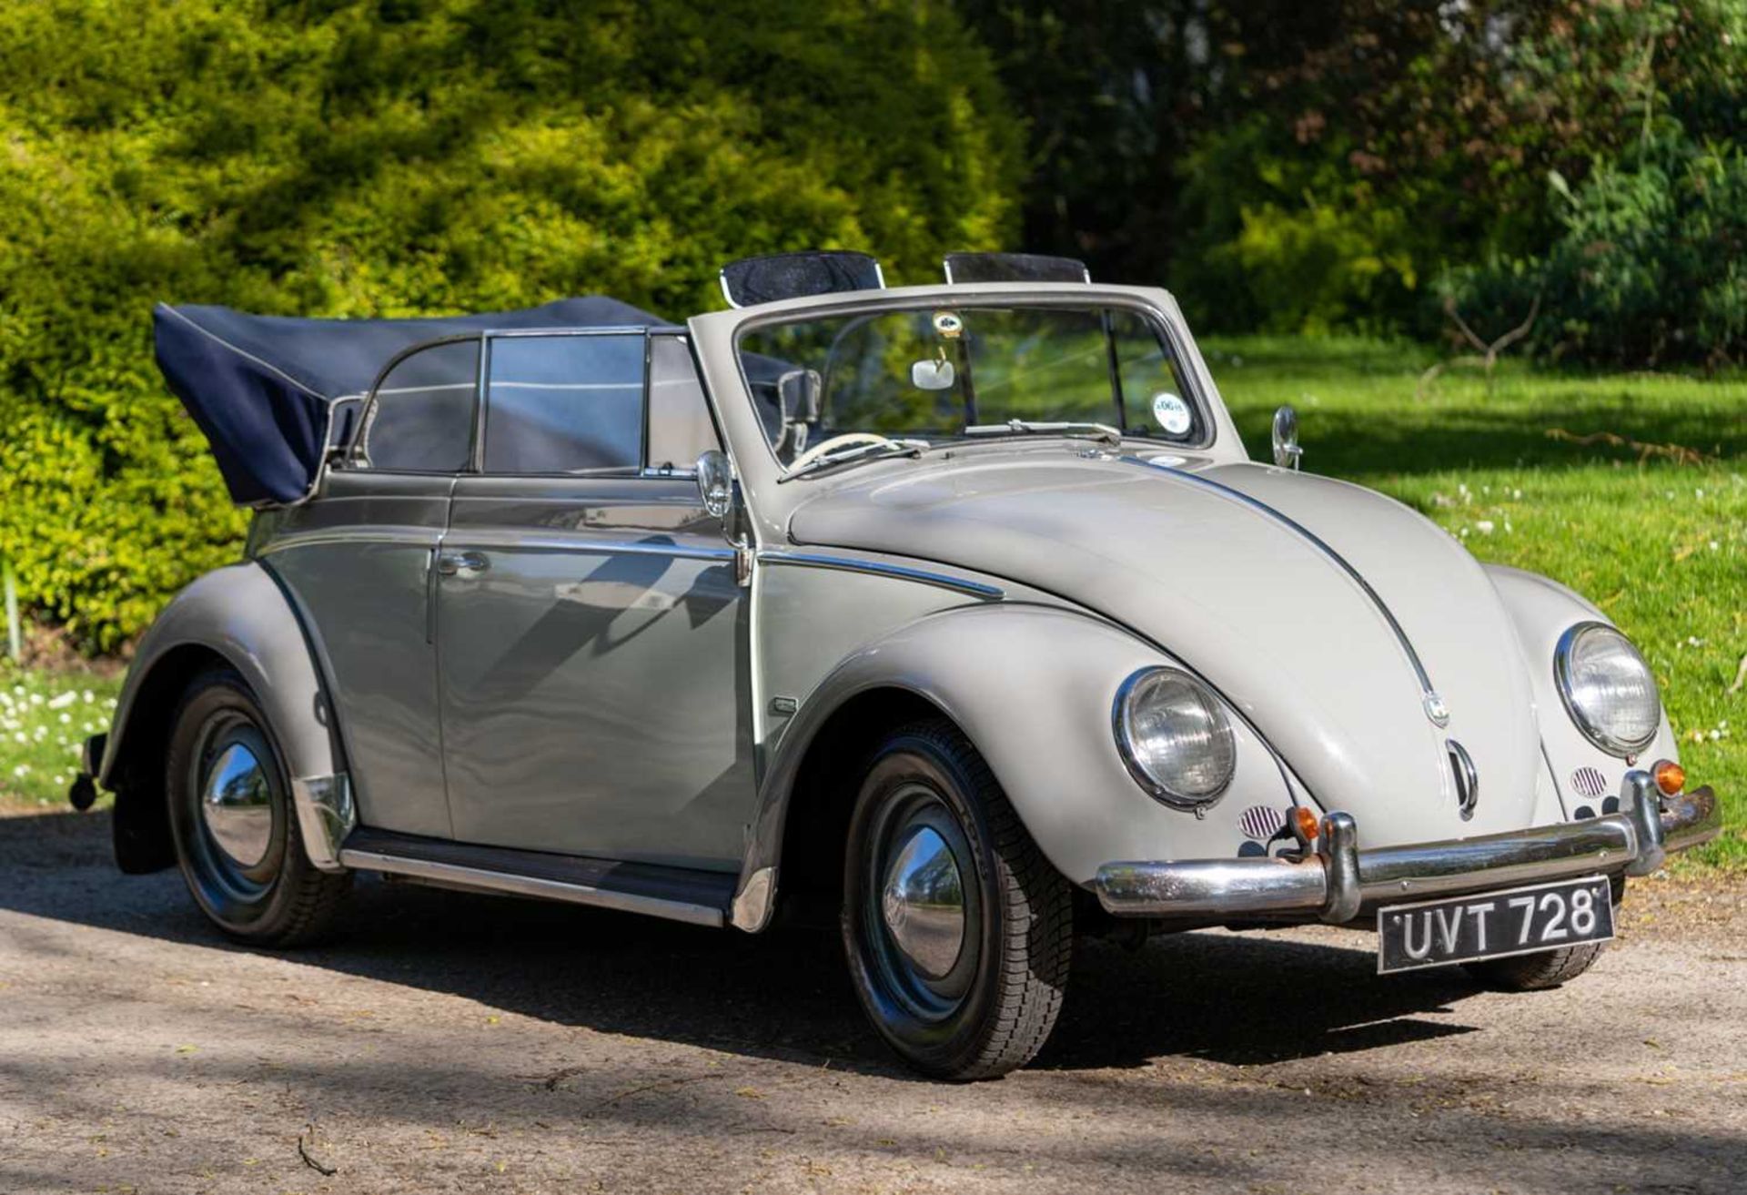
[[[183,694],[164,793],[182,877],[213,924],[253,945],[328,928],[351,875],[309,863],[273,729],[234,671],[203,673]]]

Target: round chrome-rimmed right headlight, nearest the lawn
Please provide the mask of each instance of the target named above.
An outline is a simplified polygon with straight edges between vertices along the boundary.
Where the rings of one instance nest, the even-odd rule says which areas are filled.
[[[1607,624],[1579,622],[1562,634],[1553,678],[1571,720],[1609,755],[1637,755],[1656,737],[1656,678],[1632,639]]]

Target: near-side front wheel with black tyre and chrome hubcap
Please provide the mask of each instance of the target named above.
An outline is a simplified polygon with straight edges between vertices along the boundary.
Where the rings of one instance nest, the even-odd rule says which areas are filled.
[[[949,1080],[1024,1066],[1055,1027],[1073,888],[949,722],[872,755],[844,865],[849,973],[891,1046]]]

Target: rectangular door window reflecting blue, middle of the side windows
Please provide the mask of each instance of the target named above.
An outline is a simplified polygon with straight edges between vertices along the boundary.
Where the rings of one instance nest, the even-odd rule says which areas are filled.
[[[486,472],[643,463],[643,334],[501,335],[486,370]]]

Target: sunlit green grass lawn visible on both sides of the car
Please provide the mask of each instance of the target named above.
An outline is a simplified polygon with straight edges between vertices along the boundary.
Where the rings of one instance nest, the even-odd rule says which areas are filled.
[[[1361,339],[1204,344],[1249,444],[1298,407],[1305,468],[1426,512],[1487,561],[1555,577],[1600,604],[1656,669],[1688,772],[1723,795],[1730,832],[1705,860],[1747,868],[1747,379],[1555,374],[1504,363],[1415,395],[1426,348]],[[1703,454],[1698,465],[1576,437]],[[91,701],[86,701],[86,694]],[[115,681],[0,667],[0,798],[58,804]],[[70,697],[68,697],[70,695]],[[19,770],[23,769],[23,770]]]

